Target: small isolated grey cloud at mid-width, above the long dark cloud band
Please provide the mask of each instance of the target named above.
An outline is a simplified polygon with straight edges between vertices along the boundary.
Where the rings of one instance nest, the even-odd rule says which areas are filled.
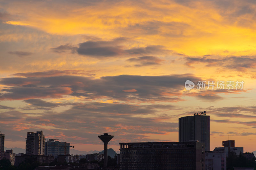
[[[160,63],[163,62],[164,60],[161,60],[154,56],[142,56],[138,58],[130,58],[127,61],[139,63],[133,66],[141,67],[141,66],[150,66],[150,65],[160,65]]]

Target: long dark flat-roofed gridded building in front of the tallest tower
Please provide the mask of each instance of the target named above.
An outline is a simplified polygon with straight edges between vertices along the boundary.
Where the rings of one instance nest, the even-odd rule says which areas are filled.
[[[119,143],[120,170],[204,170],[204,143]]]

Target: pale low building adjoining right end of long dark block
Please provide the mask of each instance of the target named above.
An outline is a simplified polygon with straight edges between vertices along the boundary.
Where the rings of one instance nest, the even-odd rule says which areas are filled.
[[[205,170],[226,170],[226,153],[205,152]]]

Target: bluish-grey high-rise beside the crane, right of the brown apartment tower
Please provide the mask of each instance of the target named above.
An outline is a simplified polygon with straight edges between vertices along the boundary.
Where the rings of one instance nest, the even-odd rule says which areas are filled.
[[[69,155],[70,143],[54,141],[54,139],[48,139],[45,142],[45,155],[52,155],[54,158],[58,158],[59,155]]]

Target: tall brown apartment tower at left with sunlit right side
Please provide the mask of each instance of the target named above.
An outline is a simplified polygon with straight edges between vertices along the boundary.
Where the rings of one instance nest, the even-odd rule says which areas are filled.
[[[26,138],[27,155],[44,155],[44,133],[43,131],[28,132]]]

